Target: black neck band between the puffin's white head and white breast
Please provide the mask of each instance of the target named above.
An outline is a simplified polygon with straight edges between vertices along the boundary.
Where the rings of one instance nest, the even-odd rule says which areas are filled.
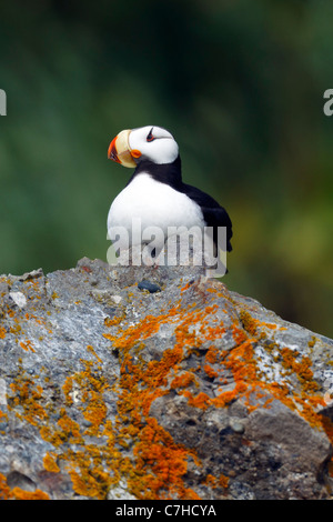
[[[148,173],[154,180],[167,183],[173,189],[182,185],[181,159],[178,157],[172,163],[157,164],[149,160],[141,160],[128,184],[140,173]]]

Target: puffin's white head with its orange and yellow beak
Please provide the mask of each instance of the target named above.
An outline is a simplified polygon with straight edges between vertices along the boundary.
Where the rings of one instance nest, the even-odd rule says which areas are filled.
[[[124,167],[137,167],[140,161],[172,163],[179,154],[170,132],[161,127],[141,127],[123,130],[110,143],[108,158]]]

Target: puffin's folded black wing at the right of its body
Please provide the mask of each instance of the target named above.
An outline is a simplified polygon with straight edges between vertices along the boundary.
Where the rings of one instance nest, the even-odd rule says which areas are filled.
[[[208,227],[226,227],[226,250],[230,252],[232,238],[232,222],[226,210],[221,207],[211,195],[184,183],[184,192],[201,207],[203,219]]]

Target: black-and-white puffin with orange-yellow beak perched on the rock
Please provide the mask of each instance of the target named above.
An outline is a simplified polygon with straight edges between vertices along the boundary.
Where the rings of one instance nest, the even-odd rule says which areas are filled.
[[[211,195],[183,182],[179,145],[167,129],[145,126],[122,130],[111,141],[108,158],[135,169],[110,207],[108,231],[124,228],[131,234],[133,220],[140,220],[142,230],[153,227],[164,234],[173,227],[210,228],[216,252],[218,230],[223,227],[225,259],[225,248],[232,250],[231,219]]]

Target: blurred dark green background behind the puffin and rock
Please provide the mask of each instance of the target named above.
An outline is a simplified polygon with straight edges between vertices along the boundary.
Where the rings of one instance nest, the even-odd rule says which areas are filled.
[[[158,124],[230,212],[228,287],[333,337],[331,0],[11,1],[0,21],[0,273],[105,260],[131,173],[109,142]]]

